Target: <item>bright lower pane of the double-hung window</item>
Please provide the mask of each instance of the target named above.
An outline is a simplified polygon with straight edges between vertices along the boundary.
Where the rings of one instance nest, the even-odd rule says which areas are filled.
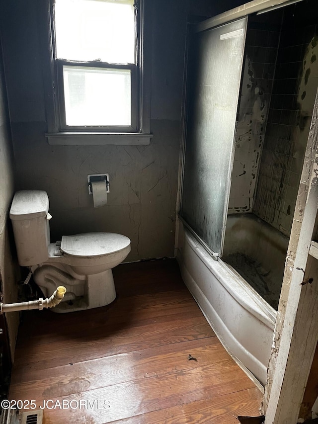
[[[131,125],[131,71],[63,66],[67,125]]]

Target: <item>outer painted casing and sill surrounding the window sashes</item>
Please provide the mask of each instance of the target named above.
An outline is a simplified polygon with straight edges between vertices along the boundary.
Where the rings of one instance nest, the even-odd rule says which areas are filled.
[[[53,49],[53,1],[39,1],[39,25],[43,81],[45,93],[47,132],[44,134],[50,145],[96,146],[96,145],[149,145],[153,135],[150,133],[150,87],[151,87],[151,46],[150,38],[145,42],[146,13],[143,0],[138,0],[139,19],[139,130],[136,132],[67,132],[59,128],[59,99],[56,82],[55,58]],[[46,19],[43,19],[43,16]],[[147,24],[149,26],[149,23]],[[149,32],[149,31],[147,31]],[[145,57],[149,60],[145,60]]]

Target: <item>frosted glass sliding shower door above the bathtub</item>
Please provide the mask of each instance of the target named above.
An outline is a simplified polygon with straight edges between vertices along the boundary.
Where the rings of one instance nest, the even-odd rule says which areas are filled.
[[[192,36],[181,215],[222,252],[246,18]]]

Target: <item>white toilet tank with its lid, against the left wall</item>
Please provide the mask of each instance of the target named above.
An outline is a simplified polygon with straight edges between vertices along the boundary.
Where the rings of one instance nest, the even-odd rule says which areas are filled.
[[[14,194],[10,219],[21,266],[37,265],[48,257],[50,243],[49,198],[43,190],[21,190]]]

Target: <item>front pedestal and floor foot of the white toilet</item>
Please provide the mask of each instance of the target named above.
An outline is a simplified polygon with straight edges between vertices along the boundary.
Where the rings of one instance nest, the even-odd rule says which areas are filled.
[[[83,296],[61,302],[51,310],[57,313],[67,313],[109,305],[116,298],[112,270],[108,269],[99,274],[88,275],[85,291],[86,293]]]

